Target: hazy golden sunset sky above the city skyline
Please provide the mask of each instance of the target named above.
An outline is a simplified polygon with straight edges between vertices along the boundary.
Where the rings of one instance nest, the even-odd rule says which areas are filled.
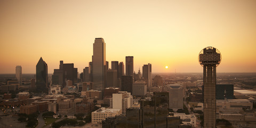
[[[81,73],[98,37],[109,63],[133,56],[136,73],[202,73],[207,46],[221,52],[217,73],[256,72],[256,1],[2,0],[0,74],[35,74],[40,57],[48,73],[60,60]]]

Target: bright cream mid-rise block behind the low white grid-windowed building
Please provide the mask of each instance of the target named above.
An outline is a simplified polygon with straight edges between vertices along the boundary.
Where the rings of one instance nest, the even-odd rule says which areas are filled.
[[[124,115],[126,109],[132,107],[132,105],[132,95],[130,92],[119,91],[118,93],[114,93],[110,99],[110,108],[121,109]]]

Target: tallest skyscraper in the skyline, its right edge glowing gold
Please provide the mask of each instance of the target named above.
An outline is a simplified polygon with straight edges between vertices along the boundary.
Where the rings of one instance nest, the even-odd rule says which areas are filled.
[[[106,68],[106,43],[103,38],[95,38],[92,61],[94,89],[103,91]]]

